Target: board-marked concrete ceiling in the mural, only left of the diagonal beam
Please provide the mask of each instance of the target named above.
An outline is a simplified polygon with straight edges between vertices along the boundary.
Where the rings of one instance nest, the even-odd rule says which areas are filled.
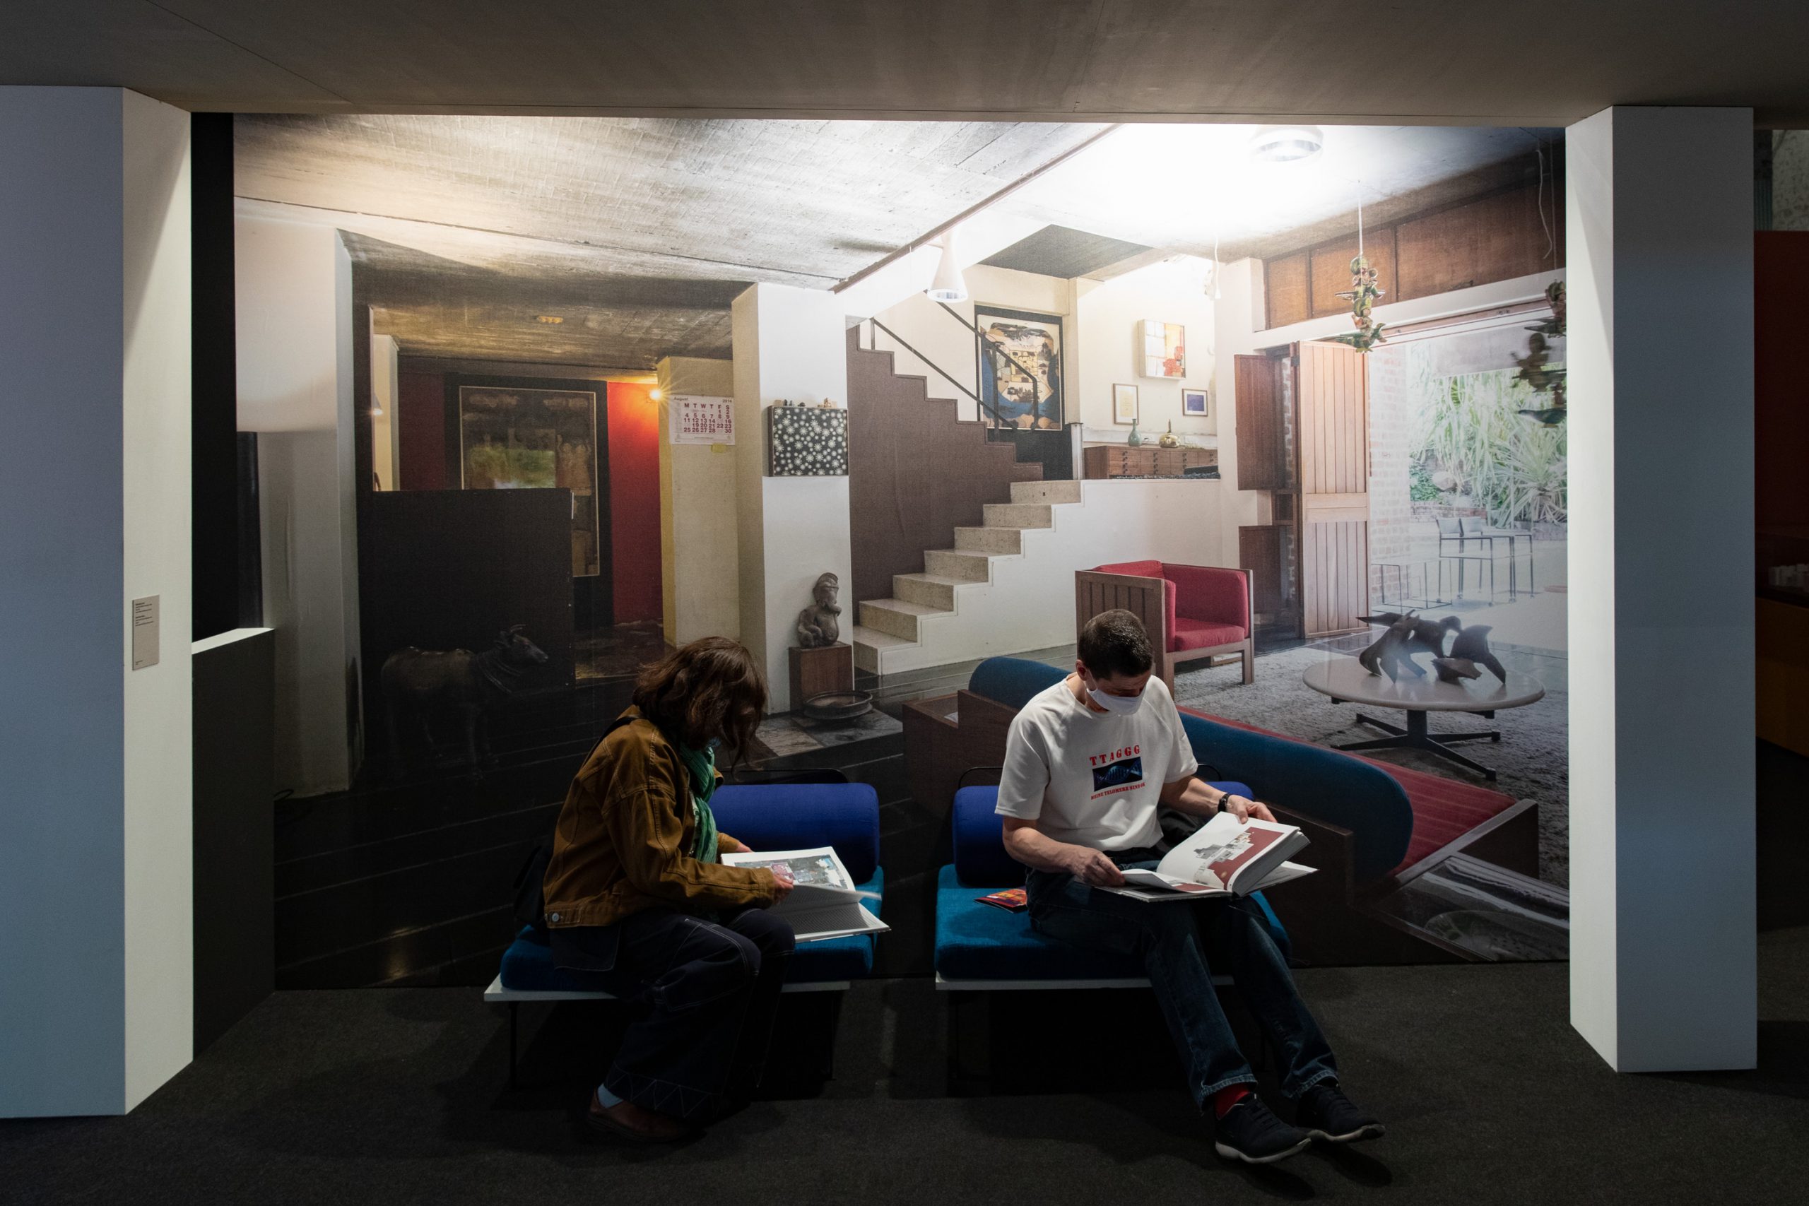
[[[1094,132],[241,116],[235,192],[346,230],[360,297],[409,353],[648,369],[725,356],[749,284],[827,289]]]

